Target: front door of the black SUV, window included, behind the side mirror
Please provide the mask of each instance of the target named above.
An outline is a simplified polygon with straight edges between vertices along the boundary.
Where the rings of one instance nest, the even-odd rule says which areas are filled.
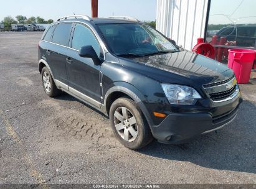
[[[91,104],[100,104],[100,65],[95,65],[92,58],[82,58],[78,55],[81,47],[92,45],[100,57],[100,44],[86,25],[76,24],[73,31],[71,49],[67,53],[67,73],[70,91],[83,97]],[[75,91],[72,91],[72,90]],[[79,93],[77,93],[77,91]],[[82,93],[82,94],[80,94]]]

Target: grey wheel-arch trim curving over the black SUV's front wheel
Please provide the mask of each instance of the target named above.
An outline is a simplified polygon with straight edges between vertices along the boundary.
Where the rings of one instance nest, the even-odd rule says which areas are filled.
[[[105,94],[104,98],[104,106],[102,106],[103,111],[107,112],[106,110],[106,103],[108,96],[113,92],[122,92],[127,94],[127,96],[130,96],[133,101],[135,101],[136,104],[140,107],[141,111],[143,112],[146,120],[148,121],[149,127],[153,126],[153,121],[151,117],[149,116],[148,109],[146,109],[146,106],[143,104],[143,101],[146,101],[145,96],[137,89],[135,86],[131,85],[130,83],[117,81],[115,83],[111,83],[112,86],[110,89],[108,89],[107,93]]]

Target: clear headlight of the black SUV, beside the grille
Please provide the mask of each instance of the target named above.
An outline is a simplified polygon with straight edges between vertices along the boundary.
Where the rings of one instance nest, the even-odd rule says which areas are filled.
[[[192,105],[201,98],[196,90],[189,86],[161,84],[170,104]]]

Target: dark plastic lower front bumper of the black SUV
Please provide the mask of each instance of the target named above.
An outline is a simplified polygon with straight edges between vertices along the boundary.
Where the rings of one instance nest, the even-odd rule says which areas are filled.
[[[207,132],[215,131],[235,119],[239,105],[221,116],[210,113],[171,113],[158,126],[151,127],[154,138],[165,144],[181,144]]]

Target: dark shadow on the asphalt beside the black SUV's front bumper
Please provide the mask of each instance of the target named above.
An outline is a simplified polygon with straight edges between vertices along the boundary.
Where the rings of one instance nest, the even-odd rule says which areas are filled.
[[[189,144],[166,145],[154,141],[138,152],[218,170],[256,173],[255,113],[256,106],[244,101],[237,118],[219,131],[194,139]]]

